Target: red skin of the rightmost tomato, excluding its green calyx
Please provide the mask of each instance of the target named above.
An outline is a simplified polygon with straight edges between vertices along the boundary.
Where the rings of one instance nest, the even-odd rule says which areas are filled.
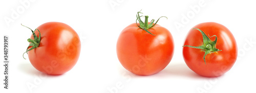
[[[201,49],[183,47],[183,58],[186,65],[195,73],[206,77],[221,76],[229,71],[237,60],[238,48],[236,40],[231,32],[224,25],[215,22],[200,23],[193,28],[201,29],[207,36],[218,37],[216,48],[222,51],[209,53],[205,56]],[[186,36],[184,45],[201,46],[203,45],[202,34],[191,28]],[[209,37],[211,41],[215,37]]]

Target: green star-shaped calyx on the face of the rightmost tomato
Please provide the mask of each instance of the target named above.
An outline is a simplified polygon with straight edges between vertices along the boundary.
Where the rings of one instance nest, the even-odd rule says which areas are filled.
[[[210,36],[206,36],[205,33],[200,30],[199,28],[193,28],[193,29],[197,29],[199,30],[199,32],[202,34],[203,36],[203,45],[201,46],[189,46],[189,45],[184,45],[182,47],[191,47],[191,48],[197,48],[197,49],[202,49],[205,53],[204,53],[204,63],[206,64],[205,62],[205,56],[211,52],[218,52],[218,51],[222,51],[222,50],[219,50],[216,48],[216,43],[217,43],[217,36],[214,35],[214,36],[211,36],[211,37],[215,37],[215,41],[211,41],[210,40]]]

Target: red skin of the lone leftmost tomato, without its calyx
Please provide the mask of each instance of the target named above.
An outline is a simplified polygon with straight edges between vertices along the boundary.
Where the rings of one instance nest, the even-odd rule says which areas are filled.
[[[37,29],[41,33],[40,45],[28,51],[33,67],[50,75],[59,75],[71,70],[79,58],[81,49],[75,30],[61,22],[47,22]],[[39,36],[39,32],[36,31],[35,34]]]

